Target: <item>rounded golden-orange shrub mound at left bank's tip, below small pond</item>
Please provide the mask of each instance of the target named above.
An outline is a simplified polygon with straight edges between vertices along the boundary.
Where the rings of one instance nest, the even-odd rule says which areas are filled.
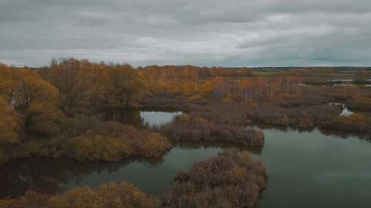
[[[124,157],[159,157],[171,147],[159,133],[117,122],[102,122],[67,140],[66,153],[80,161],[118,161]]]

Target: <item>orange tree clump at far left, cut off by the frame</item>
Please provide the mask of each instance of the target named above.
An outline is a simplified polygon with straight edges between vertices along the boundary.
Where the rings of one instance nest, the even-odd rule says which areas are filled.
[[[1,68],[0,92],[3,102],[22,114],[25,129],[49,134],[58,129],[58,89],[28,68]]]

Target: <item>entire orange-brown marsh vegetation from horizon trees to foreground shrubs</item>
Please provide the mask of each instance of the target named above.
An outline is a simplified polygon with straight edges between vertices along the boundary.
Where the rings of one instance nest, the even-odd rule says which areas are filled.
[[[0,166],[25,157],[158,158],[179,141],[261,147],[265,135],[254,129],[260,124],[371,140],[369,80],[368,68],[133,68],[74,58],[53,59],[42,68],[0,64]],[[344,105],[352,114],[341,115]],[[183,114],[165,125],[135,127],[102,118],[112,109]],[[230,149],[179,172],[174,181],[161,198],[123,182],[56,196],[30,190],[0,200],[0,207],[254,207],[267,173],[260,161]]]

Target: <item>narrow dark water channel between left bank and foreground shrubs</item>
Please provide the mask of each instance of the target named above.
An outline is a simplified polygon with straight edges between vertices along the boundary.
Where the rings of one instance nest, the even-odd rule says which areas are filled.
[[[194,144],[193,144],[194,145]],[[161,194],[179,170],[216,155],[219,146],[181,144],[160,159],[124,159],[118,163],[81,163],[68,158],[26,159],[1,167],[0,197],[20,196],[25,190],[60,193],[77,186],[98,187],[128,181],[152,195]]]

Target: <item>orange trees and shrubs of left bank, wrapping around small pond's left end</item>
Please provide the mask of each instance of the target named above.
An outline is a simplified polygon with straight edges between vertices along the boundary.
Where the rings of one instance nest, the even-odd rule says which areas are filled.
[[[99,108],[129,107],[142,98],[144,78],[127,64],[64,59],[38,70],[0,67],[1,164],[32,155],[117,161],[170,148],[159,133],[94,116]]]

